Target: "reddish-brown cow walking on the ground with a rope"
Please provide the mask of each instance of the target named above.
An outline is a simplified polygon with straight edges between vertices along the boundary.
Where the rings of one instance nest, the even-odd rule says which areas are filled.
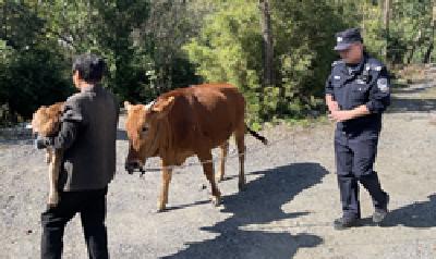
[[[219,180],[223,178],[228,139],[234,134],[238,146],[240,172],[239,189],[245,184],[244,134],[245,100],[239,90],[228,84],[197,85],[180,88],[159,96],[150,104],[130,104],[125,128],[130,139],[125,169],[132,173],[142,169],[147,158],[161,159],[164,185],[158,201],[158,211],[168,202],[168,187],[172,170],[170,165],[181,165],[186,158],[196,155],[203,163],[203,171],[211,186],[211,200],[218,206],[220,192],[214,177],[211,149],[221,148]],[[249,132],[267,140],[255,132]]]

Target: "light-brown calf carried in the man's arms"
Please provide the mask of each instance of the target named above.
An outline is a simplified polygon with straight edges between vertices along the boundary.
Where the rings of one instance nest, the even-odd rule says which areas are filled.
[[[61,125],[61,115],[63,102],[57,102],[49,107],[40,107],[33,115],[32,128],[34,133],[44,137],[56,135]],[[48,205],[56,206],[59,202],[58,178],[62,160],[62,150],[47,147],[46,162],[49,164],[49,184]]]

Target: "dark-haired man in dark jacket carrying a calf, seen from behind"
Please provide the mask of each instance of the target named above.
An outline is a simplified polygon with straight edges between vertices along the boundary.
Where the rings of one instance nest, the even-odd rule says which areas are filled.
[[[60,200],[41,214],[41,258],[61,258],[65,224],[81,214],[89,258],[108,258],[106,195],[116,172],[116,138],[119,107],[114,96],[99,83],[105,62],[83,54],[73,63],[78,94],[63,109],[55,137],[39,138],[37,146],[63,150]]]

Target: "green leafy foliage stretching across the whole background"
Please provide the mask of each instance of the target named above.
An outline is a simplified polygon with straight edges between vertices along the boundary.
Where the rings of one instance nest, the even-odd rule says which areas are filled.
[[[265,1],[270,85],[263,85]],[[391,2],[387,30],[382,0],[3,0],[0,110],[7,115],[0,121],[26,119],[71,95],[71,61],[83,52],[107,60],[105,85],[120,100],[147,102],[177,87],[228,82],[244,94],[251,124],[316,115],[338,59],[336,32],[361,27],[367,50],[391,65],[436,58],[434,1]]]

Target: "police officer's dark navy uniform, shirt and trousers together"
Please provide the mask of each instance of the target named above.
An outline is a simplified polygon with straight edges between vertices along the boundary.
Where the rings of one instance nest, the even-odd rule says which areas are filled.
[[[361,217],[358,181],[370,192],[376,209],[386,209],[387,194],[382,189],[373,164],[382,130],[382,113],[390,102],[389,77],[385,65],[366,53],[360,64],[343,61],[332,64],[326,83],[340,110],[366,106],[371,114],[339,122],[335,132],[335,155],[343,218]]]

